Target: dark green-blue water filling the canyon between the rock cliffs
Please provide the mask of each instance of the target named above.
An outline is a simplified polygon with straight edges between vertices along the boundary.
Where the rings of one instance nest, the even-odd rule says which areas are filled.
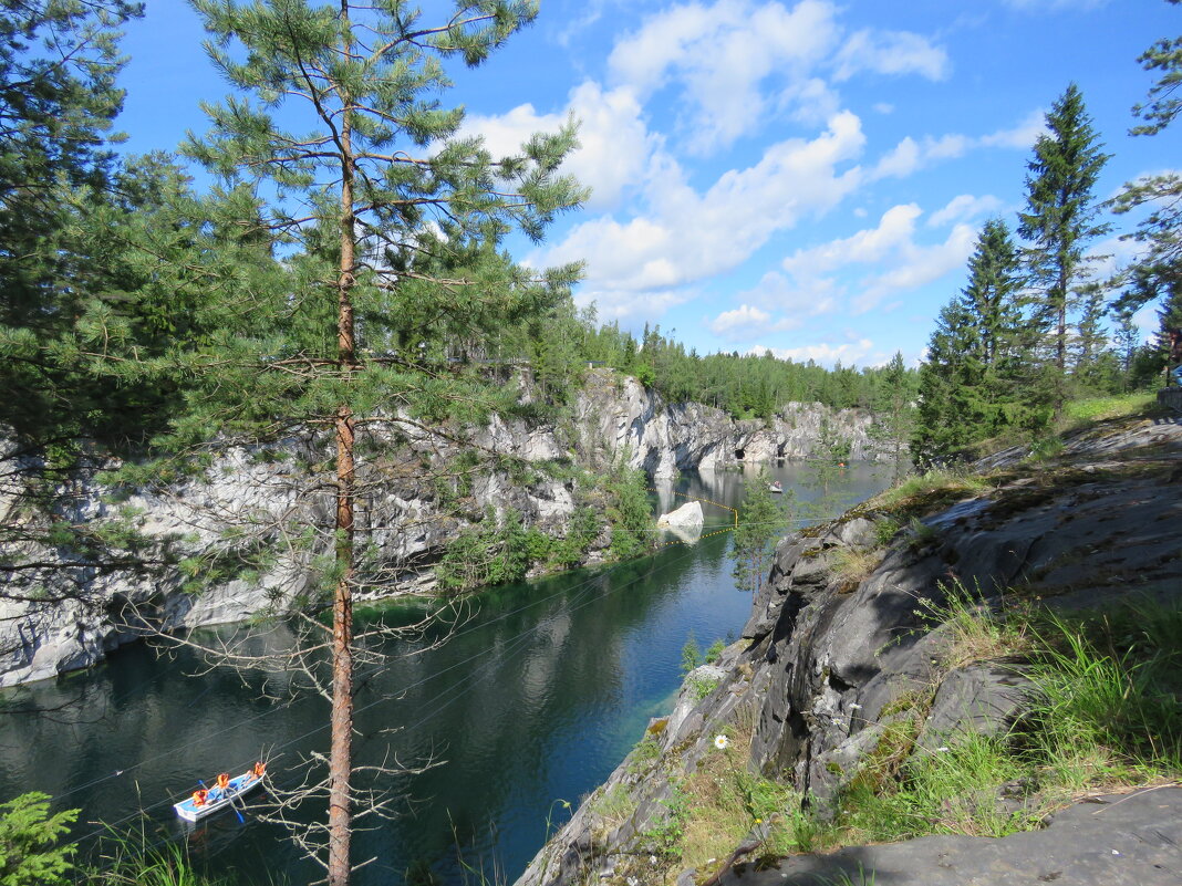
[[[801,471],[772,469],[785,489],[813,499],[799,486]],[[847,506],[885,486],[886,473],[853,465],[832,491]],[[654,504],[664,512],[690,496],[738,506],[742,483],[738,471],[694,475],[658,487]],[[721,507],[704,513],[706,533],[734,521]],[[720,533],[606,569],[494,588],[443,646],[407,657],[408,644],[388,643],[385,667],[362,667],[355,763],[392,754],[436,766],[392,782],[396,820],[357,822],[372,829],[355,835],[353,858],[376,860],[356,886],[408,882],[408,871],[428,868],[446,884],[476,881],[469,868],[515,879],[547,828],[608,776],[650,717],[670,710],[690,632],[702,649],[738,637],[751,597],[735,589],[729,548],[729,533]],[[269,678],[274,685],[284,675]],[[208,671],[186,650],[160,657],[135,645],[0,701],[8,710],[0,799],[41,790],[80,808],[72,838],[84,851],[105,822],[143,827],[149,843],[183,841],[199,866],[243,885],[322,875],[278,825],[222,812],[184,826],[170,806],[195,778],[242,771],[260,754],[275,758],[277,783],[294,784],[300,755],[327,747],[323,698],[277,704],[258,679]],[[301,815],[317,820],[323,808]]]

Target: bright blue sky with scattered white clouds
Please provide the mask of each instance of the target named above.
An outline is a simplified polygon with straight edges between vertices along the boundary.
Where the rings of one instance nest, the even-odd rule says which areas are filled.
[[[428,21],[446,8],[422,5]],[[600,321],[660,325],[702,354],[914,364],[981,224],[1015,227],[1069,84],[1113,155],[1098,198],[1178,168],[1182,124],[1128,130],[1155,80],[1137,57],[1180,33],[1164,0],[543,0],[485,65],[452,72],[448,100],[494,154],[579,120],[565,168],[590,198],[513,249],[585,262],[576,301]],[[203,38],[183,0],[147,0],[126,27],[122,150],[207,129],[199,103],[228,86]],[[1110,221],[1102,269],[1136,250],[1119,239],[1132,219]]]

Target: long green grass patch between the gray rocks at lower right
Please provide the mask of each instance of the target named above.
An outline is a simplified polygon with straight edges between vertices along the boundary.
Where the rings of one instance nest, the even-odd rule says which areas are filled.
[[[1020,658],[1032,710],[1009,734],[966,732],[939,748],[916,744],[920,717],[889,722],[840,797],[832,841],[1004,836],[1082,793],[1182,774],[1182,605],[1069,619],[1025,602],[991,608],[954,585],[927,613],[948,625],[944,672]]]

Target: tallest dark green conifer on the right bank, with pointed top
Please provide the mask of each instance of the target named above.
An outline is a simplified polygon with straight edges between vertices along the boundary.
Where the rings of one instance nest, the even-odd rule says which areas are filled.
[[[1026,164],[1027,211],[1019,214],[1019,233],[1030,242],[1030,281],[1039,292],[1035,315],[1053,340],[1058,415],[1066,399],[1067,319],[1089,275],[1084,254],[1110,229],[1096,221],[1099,206],[1092,189],[1111,155],[1100,150],[1076,84],[1051,106],[1046,126],[1048,132],[1039,136]]]

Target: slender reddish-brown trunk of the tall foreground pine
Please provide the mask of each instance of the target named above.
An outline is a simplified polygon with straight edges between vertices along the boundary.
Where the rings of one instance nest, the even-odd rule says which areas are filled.
[[[342,0],[348,20],[348,0]],[[348,28],[346,28],[348,33]],[[345,47],[346,52],[349,46]],[[344,378],[357,369],[353,328],[353,157],[348,103],[340,123],[340,273],[337,278],[337,360]],[[337,566],[340,578],[332,602],[332,719],[329,750],[329,886],[348,886],[351,872],[353,730],[353,443],[348,403],[337,409]]]

